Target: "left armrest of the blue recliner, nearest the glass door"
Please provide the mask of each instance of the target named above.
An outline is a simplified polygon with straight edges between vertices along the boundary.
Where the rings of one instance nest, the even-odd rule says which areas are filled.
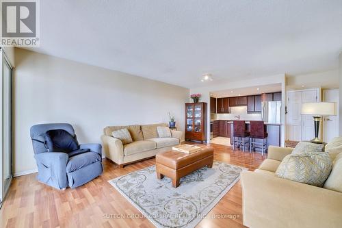
[[[67,187],[66,164],[67,153],[44,152],[34,155],[38,166],[38,180],[54,188]]]

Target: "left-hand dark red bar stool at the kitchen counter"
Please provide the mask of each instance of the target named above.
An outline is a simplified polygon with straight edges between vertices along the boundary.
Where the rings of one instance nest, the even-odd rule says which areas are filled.
[[[250,133],[247,131],[245,121],[233,121],[233,151],[235,151],[236,143],[238,147],[243,147],[243,151],[246,146],[248,148],[250,145]]]

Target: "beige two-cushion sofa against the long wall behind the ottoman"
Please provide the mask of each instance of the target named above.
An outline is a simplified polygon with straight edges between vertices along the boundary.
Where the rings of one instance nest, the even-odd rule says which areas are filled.
[[[130,125],[105,127],[104,135],[101,136],[105,157],[115,162],[122,168],[126,164],[144,160],[155,156],[157,153],[169,151],[173,146],[181,143],[182,131],[171,131],[171,138],[159,138],[157,126],[167,125],[165,123],[155,125]],[[113,131],[127,128],[133,142],[123,145],[121,140],[111,136]]]

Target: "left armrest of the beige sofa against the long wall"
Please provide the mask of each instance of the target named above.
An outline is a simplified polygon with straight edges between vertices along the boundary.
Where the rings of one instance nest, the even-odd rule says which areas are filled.
[[[103,142],[103,150],[105,151],[105,157],[109,158],[116,164],[124,163],[124,146],[121,140],[111,136],[101,136]]]

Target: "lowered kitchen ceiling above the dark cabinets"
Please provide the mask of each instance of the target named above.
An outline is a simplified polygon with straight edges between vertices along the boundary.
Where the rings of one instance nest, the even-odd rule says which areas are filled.
[[[237,97],[237,96],[248,96],[257,95],[266,92],[280,92],[281,84],[269,84],[265,86],[252,86],[245,88],[235,88],[232,90],[220,90],[210,92],[211,97]]]

